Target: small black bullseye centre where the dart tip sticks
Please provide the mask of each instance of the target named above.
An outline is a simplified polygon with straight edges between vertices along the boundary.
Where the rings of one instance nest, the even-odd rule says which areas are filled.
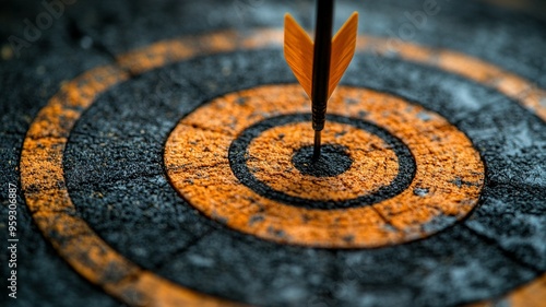
[[[340,145],[322,145],[320,158],[312,160],[312,146],[297,150],[292,163],[304,175],[314,177],[333,177],[345,173],[353,160],[348,156],[347,149]]]

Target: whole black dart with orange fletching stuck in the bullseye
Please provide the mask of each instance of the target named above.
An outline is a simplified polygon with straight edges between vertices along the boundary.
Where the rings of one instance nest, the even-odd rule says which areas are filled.
[[[284,19],[284,57],[312,102],[313,160],[320,157],[320,132],[327,103],[356,48],[358,13],[354,12],[332,39],[333,0],[317,0],[314,44],[290,14]]]

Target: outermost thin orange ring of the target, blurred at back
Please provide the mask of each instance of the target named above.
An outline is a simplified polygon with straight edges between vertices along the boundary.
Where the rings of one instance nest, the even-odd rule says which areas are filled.
[[[21,153],[21,184],[33,219],[62,258],[92,283],[132,306],[229,306],[227,302],[176,285],[142,270],[102,240],[85,221],[75,215],[62,170],[62,156],[70,131],[83,110],[110,86],[167,63],[197,54],[227,52],[281,46],[283,32],[235,32],[164,40],[118,57],[110,66],[84,72],[64,84],[32,122]],[[389,39],[360,36],[359,50],[389,51]],[[439,67],[488,85],[520,102],[546,120],[546,92],[532,82],[479,59],[451,50],[411,43],[396,46],[397,56]],[[466,69],[472,66],[472,69]],[[119,278],[108,276],[116,268]]]

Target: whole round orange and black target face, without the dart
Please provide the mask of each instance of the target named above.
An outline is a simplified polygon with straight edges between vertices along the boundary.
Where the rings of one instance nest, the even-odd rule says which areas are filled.
[[[282,44],[207,31],[63,82],[19,163],[55,252],[128,306],[543,306],[546,92],[363,32],[311,168]]]

